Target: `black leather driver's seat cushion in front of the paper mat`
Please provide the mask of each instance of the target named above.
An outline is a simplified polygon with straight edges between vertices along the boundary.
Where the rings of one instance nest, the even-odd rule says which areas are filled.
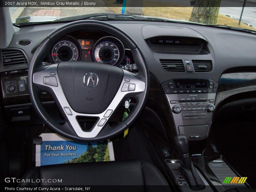
[[[47,165],[29,170],[23,179],[44,179],[44,182],[33,185],[143,186],[141,191],[153,191],[149,186],[161,186],[161,191],[171,191],[157,168],[145,161]],[[47,184],[45,180],[48,179],[62,179],[62,183]],[[21,185],[28,184],[21,183]]]

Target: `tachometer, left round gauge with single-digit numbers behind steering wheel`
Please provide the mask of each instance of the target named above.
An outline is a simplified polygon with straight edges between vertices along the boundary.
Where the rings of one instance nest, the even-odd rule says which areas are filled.
[[[62,61],[77,61],[79,51],[75,43],[69,40],[60,40],[52,47],[52,60],[55,63]]]

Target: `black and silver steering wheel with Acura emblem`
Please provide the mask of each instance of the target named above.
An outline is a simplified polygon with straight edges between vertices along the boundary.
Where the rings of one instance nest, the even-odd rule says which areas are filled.
[[[97,62],[68,61],[41,65],[52,45],[60,37],[78,30],[98,30],[111,34],[131,50],[139,73]],[[39,92],[49,92],[65,124],[57,123],[44,109]],[[28,69],[28,92],[37,114],[53,132],[82,141],[105,140],[131,126],[145,107],[149,91],[149,72],[139,46],[121,29],[102,21],[81,20],[55,29],[36,48]],[[136,105],[129,116],[115,127],[111,117],[128,98]],[[91,130],[83,130],[77,117],[96,117]]]

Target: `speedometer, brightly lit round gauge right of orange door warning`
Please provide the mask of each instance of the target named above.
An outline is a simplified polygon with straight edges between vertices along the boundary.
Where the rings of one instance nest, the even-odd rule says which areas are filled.
[[[101,38],[93,48],[95,62],[116,65],[124,58],[124,45],[114,37]]]

